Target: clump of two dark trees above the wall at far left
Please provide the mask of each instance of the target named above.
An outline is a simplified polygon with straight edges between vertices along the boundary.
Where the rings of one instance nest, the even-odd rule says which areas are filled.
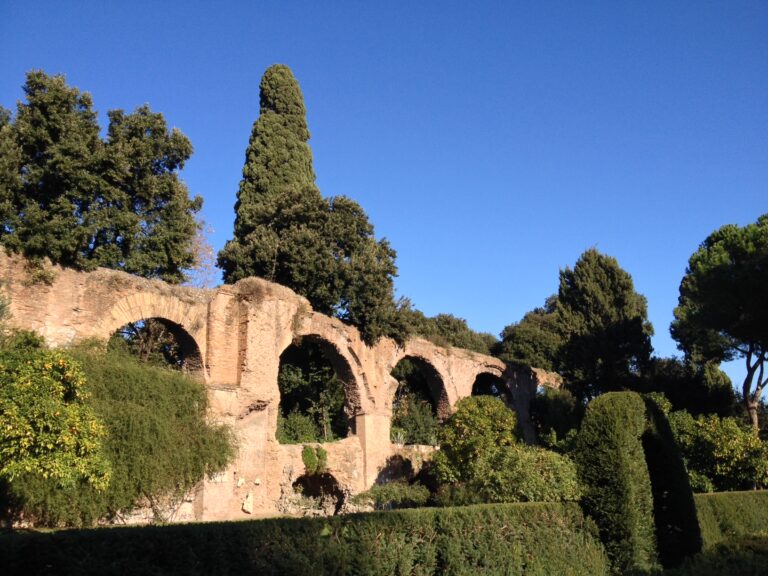
[[[63,76],[27,74],[15,117],[0,110],[0,242],[31,259],[105,266],[178,283],[195,263],[195,214],[179,170],[189,140],[148,106],[109,112]]]

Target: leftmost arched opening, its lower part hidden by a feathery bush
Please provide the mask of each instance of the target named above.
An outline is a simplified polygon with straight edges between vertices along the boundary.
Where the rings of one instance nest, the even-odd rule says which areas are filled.
[[[107,347],[123,350],[142,362],[167,366],[204,379],[203,357],[195,339],[167,318],[143,318],[115,330]]]

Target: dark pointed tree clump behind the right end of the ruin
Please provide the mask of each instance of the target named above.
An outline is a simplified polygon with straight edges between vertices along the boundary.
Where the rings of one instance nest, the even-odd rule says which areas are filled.
[[[580,400],[637,389],[650,360],[644,296],[618,262],[594,248],[560,272],[557,296],[507,326],[497,348],[507,361],[555,370]]]

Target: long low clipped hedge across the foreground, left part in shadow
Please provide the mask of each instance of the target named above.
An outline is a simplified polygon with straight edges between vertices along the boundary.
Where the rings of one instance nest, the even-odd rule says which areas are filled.
[[[4,574],[608,574],[573,503],[0,535]]]

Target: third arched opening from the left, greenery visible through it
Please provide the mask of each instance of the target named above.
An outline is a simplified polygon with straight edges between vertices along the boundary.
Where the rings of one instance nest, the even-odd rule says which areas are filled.
[[[392,401],[392,442],[436,445],[438,424],[450,415],[440,374],[416,356],[400,360],[391,374],[398,382]]]

